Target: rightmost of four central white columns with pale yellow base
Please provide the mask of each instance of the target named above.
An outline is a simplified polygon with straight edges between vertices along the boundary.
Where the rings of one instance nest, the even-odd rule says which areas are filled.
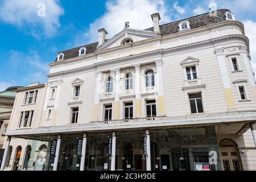
[[[165,94],[163,93],[163,61],[157,60],[155,61],[155,65],[157,67],[157,85],[158,85],[158,115],[166,115],[165,114]]]

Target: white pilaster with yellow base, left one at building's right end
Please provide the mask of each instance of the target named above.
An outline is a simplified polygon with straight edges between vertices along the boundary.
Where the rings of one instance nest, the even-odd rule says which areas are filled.
[[[216,49],[215,54],[217,55],[219,69],[221,71],[222,82],[225,90],[225,96],[227,101],[228,110],[237,110],[235,106],[235,100],[233,96],[233,91],[230,85],[229,74],[227,73],[224,48]]]

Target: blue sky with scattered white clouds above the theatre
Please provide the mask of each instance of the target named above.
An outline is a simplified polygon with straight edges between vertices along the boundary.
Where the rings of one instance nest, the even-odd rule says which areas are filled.
[[[145,29],[152,27],[153,13],[159,12],[163,24],[206,13],[209,5],[233,11],[245,24],[256,70],[253,0],[0,0],[0,91],[46,82],[47,64],[54,61],[57,52],[97,42],[99,28],[105,28],[111,38],[127,20],[131,28]]]

